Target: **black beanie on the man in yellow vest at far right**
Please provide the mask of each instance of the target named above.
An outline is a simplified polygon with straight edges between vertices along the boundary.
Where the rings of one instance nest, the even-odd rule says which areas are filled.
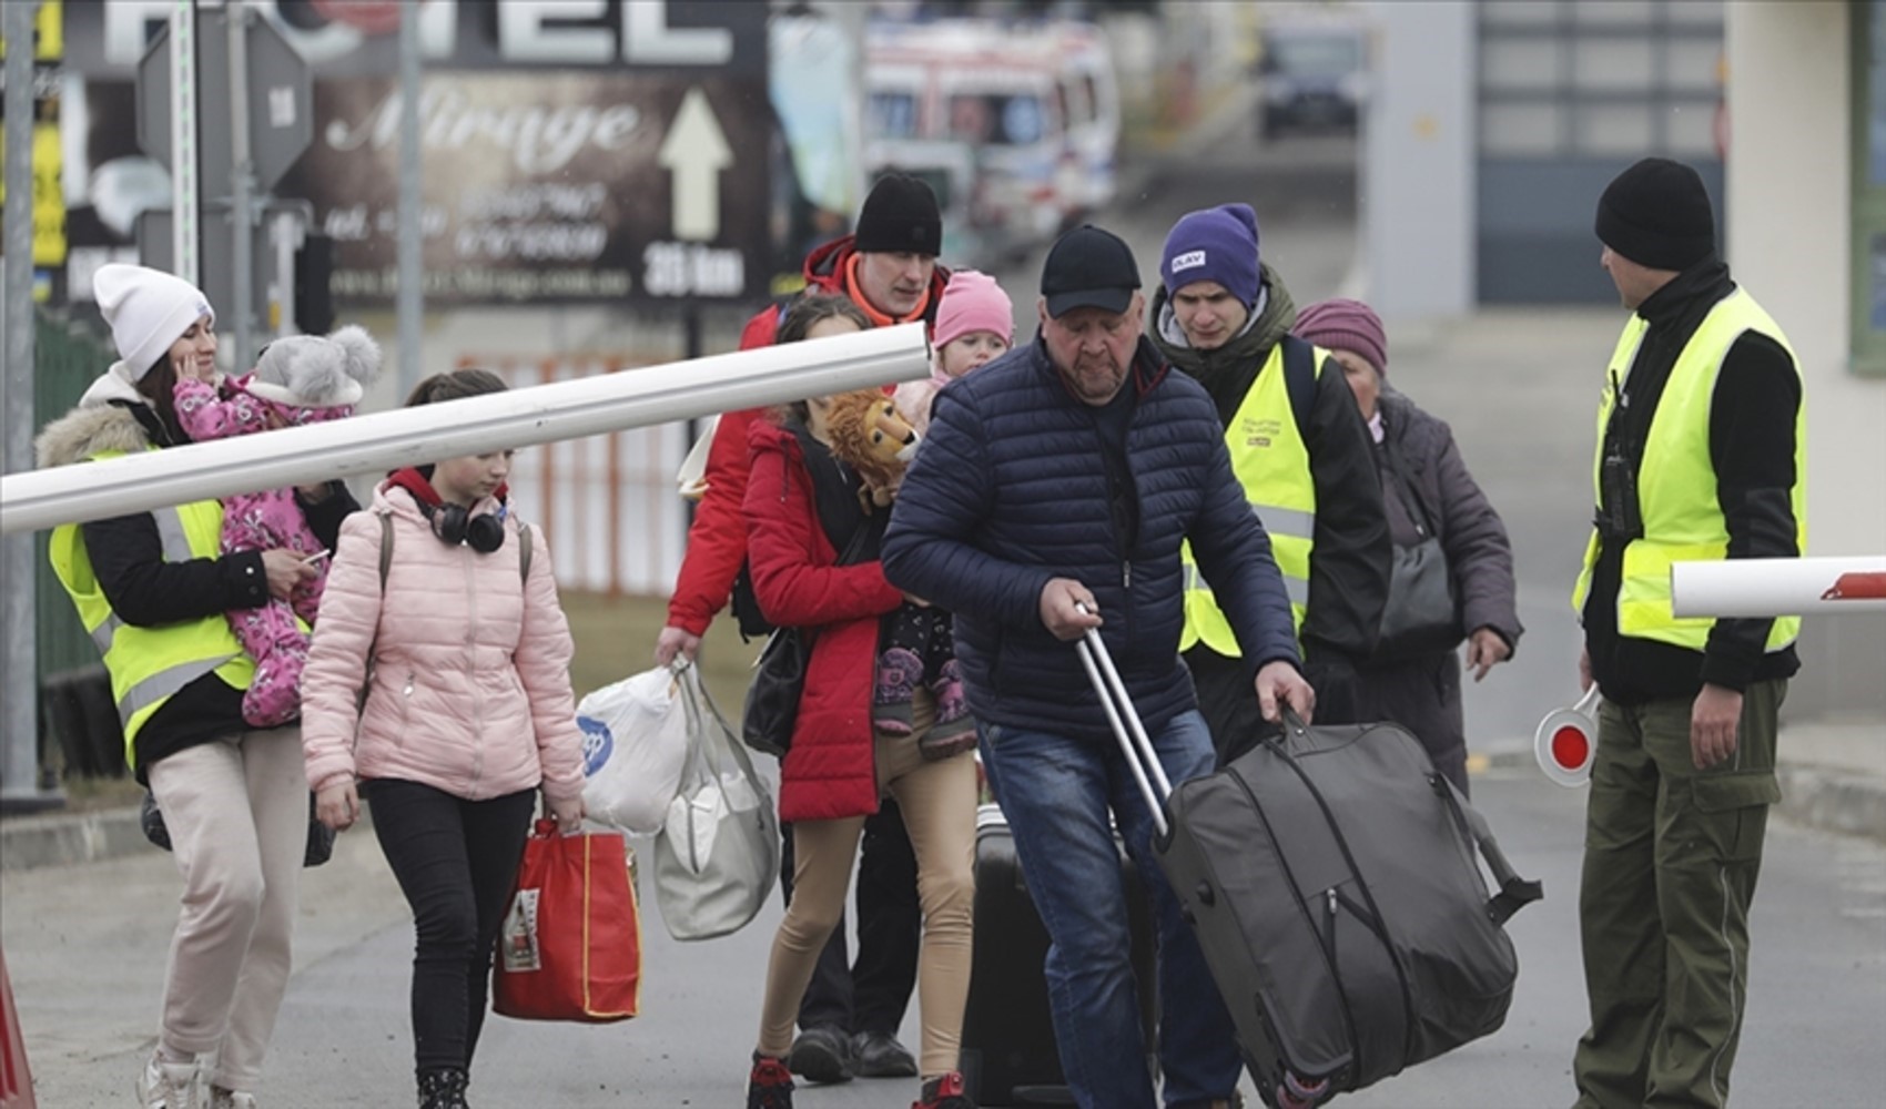
[[[1652,270],[1688,270],[1716,253],[1716,213],[1703,177],[1682,162],[1645,158],[1597,200],[1597,241]]]

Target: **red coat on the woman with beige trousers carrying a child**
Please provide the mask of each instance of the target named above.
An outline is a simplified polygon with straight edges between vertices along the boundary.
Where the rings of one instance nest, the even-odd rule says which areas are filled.
[[[879,617],[903,594],[877,562],[835,566],[819,522],[798,439],[771,421],[753,424],[747,483],[753,592],[783,628],[813,632],[792,749],[779,764],[779,819],[837,820],[877,811],[871,688]]]

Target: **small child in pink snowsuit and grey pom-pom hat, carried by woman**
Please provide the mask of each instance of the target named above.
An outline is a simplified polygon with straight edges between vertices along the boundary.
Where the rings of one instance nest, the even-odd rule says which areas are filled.
[[[177,422],[192,441],[249,436],[272,428],[315,424],[353,413],[366,385],[379,373],[379,345],[364,328],[332,336],[289,336],[272,341],[247,377],[221,387],[177,377]],[[289,547],[326,554],[307,526],[292,488],[243,492],[223,500],[223,553]],[[302,664],[307,632],[321,607],[328,564],[313,560],[317,575],[294,588],[289,602],[230,611],[230,628],[255,658],[255,681],[241,715],[255,728],[273,728],[302,713]]]

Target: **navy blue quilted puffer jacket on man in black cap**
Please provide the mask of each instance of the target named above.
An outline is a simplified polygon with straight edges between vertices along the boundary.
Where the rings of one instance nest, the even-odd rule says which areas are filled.
[[[1098,409],[1067,392],[1039,339],[937,394],[883,564],[892,585],[956,615],[956,656],[983,722],[1111,734],[1073,643],[1041,624],[1041,588],[1052,577],[1094,592],[1107,651],[1149,728],[1190,709],[1179,660],[1186,538],[1250,673],[1298,660],[1282,577],[1232,475],[1211,398],[1171,373],[1147,339],[1128,389],[1137,513],[1124,515],[1139,521],[1133,536],[1120,534],[1111,511]]]

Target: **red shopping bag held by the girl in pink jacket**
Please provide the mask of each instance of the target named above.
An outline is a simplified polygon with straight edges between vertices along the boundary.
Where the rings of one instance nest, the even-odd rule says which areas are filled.
[[[538,820],[498,934],[492,1009],[605,1024],[636,1015],[641,913],[619,832],[558,836]]]

